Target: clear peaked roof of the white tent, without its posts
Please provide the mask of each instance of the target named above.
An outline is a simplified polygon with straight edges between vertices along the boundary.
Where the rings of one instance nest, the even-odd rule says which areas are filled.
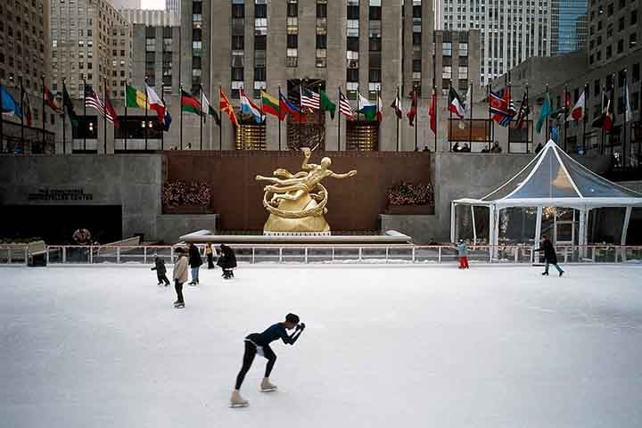
[[[633,207],[642,206],[642,193],[598,176],[550,140],[514,177],[481,199],[454,204],[507,207]]]

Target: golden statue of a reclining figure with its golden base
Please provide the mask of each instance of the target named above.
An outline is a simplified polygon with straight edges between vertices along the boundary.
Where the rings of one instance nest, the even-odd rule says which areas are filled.
[[[264,235],[330,235],[325,221],[328,193],[321,181],[327,177],[354,177],[357,171],[336,174],[328,169],[330,158],[323,158],[319,165],[308,163],[312,151],[301,149],[303,163],[300,172],[292,175],[285,169],[276,169],[274,177],[257,176],[257,181],[268,181],[263,195],[263,206],[270,213],[263,226]]]

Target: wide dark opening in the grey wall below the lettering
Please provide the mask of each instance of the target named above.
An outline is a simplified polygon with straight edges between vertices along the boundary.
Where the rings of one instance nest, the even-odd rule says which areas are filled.
[[[89,229],[98,243],[122,239],[120,205],[6,205],[0,207],[2,238],[34,238],[48,244],[72,244],[78,227]]]

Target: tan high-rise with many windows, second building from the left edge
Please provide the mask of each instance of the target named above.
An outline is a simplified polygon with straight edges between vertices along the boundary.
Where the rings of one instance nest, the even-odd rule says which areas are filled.
[[[65,79],[72,98],[82,98],[84,83],[113,98],[124,96],[131,78],[131,25],[105,0],[53,0],[51,45],[53,91]]]

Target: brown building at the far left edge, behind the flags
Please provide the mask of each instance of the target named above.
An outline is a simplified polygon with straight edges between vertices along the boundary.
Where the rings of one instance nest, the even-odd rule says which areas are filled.
[[[43,110],[42,105],[44,86],[50,85],[49,10],[49,0],[0,2],[0,85],[12,94],[17,103],[21,102],[23,88],[29,100],[31,127],[45,130],[53,128],[55,123],[53,111],[49,108]],[[10,140],[20,136],[20,128],[12,123],[20,123],[21,119],[9,115],[2,119],[0,152],[6,152]],[[34,132],[27,131],[25,138],[44,138]]]

